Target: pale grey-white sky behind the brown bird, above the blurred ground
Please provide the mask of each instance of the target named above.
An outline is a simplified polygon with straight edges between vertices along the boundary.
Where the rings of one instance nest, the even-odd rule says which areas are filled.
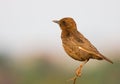
[[[61,48],[58,25],[72,17],[102,52],[120,50],[120,0],[0,0],[0,50]]]

